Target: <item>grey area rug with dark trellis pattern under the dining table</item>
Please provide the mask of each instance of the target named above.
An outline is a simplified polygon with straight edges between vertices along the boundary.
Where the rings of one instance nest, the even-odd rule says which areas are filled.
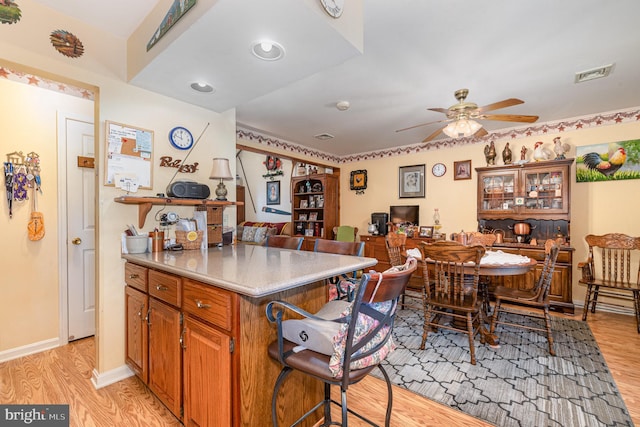
[[[383,363],[393,383],[496,426],[633,426],[587,323],[553,317],[552,326],[556,356],[544,335],[499,325],[499,348],[476,338],[474,366],[462,333],[430,333],[420,350],[422,312],[403,309],[398,348]]]

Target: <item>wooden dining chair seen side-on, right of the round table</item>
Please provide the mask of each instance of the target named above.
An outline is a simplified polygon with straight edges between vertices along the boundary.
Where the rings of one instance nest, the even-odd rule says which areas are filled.
[[[531,289],[516,289],[506,286],[496,286],[493,291],[496,303],[491,317],[490,333],[495,333],[496,325],[507,325],[532,331],[545,332],[549,343],[549,353],[555,356],[553,349],[553,334],[551,331],[551,316],[549,314],[549,288],[553,280],[553,271],[558,258],[559,247],[555,240],[548,239],[544,244],[544,264],[540,276]],[[510,305],[503,305],[507,303]],[[544,328],[538,324],[515,323],[500,320],[502,313],[517,314],[522,317],[537,318],[544,321]]]

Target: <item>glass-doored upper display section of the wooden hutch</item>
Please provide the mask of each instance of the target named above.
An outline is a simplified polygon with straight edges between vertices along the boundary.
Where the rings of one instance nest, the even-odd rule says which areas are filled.
[[[476,168],[478,219],[570,219],[573,159]]]

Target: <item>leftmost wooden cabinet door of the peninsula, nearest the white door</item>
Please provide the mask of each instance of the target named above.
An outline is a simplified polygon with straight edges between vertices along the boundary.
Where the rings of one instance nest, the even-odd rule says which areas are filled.
[[[125,362],[147,383],[147,309],[149,297],[131,286],[125,289]]]

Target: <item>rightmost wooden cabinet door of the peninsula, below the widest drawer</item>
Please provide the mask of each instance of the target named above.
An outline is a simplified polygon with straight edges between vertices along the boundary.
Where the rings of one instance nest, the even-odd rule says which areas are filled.
[[[184,321],[184,425],[230,426],[231,339],[189,316]]]

